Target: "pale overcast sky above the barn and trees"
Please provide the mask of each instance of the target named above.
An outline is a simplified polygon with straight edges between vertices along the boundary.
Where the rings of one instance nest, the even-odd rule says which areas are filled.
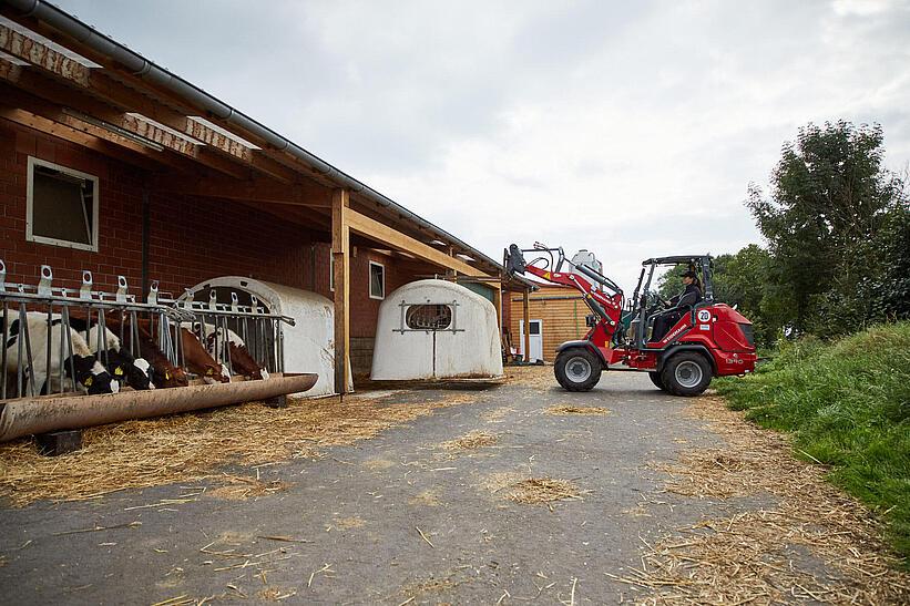
[[[501,258],[760,242],[743,205],[808,122],[910,160],[910,0],[58,0]]]

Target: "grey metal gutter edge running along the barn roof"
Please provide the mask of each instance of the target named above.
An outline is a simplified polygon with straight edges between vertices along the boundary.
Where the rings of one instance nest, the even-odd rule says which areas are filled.
[[[187,82],[186,80],[171,73],[166,69],[156,65],[137,52],[130,50],[120,42],[99,32],[91,25],[80,21],[78,18],[51,4],[50,2],[44,0],[2,1],[19,11],[23,17],[38,19],[55,30],[74,38],[96,52],[100,52],[101,54],[104,54],[105,57],[121,63],[123,66],[131,70],[135,75],[139,75],[144,80],[149,80],[153,84],[168,89],[171,92],[174,92],[187,100],[191,105],[229,123],[236,124],[241,129],[244,129],[268,142],[269,145],[273,145],[277,150],[287,150],[304,163],[308,164],[316,172],[337,183],[341,187],[346,187],[351,192],[365,195],[381,206],[393,208],[405,218],[416,223],[420,227],[428,229],[433,233],[433,235],[447,239],[449,243],[477,255],[478,260],[495,267],[497,270],[502,269],[502,264],[493,260],[477,248],[462,242],[460,238],[446,232],[441,227],[433,225],[411,210],[408,210],[393,199],[380,194],[376,189],[348,175],[344,171],[333,166],[323,158],[300,147],[293,141],[285,138],[268,126],[265,126],[243,112],[239,112],[223,101],[212,96],[195,84],[192,84],[191,82]]]

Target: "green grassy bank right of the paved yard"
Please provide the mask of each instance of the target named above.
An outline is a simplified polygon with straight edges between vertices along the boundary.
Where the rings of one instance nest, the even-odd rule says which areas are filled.
[[[798,456],[830,465],[910,567],[910,322],[785,343],[755,374],[716,386],[747,419],[793,432]]]

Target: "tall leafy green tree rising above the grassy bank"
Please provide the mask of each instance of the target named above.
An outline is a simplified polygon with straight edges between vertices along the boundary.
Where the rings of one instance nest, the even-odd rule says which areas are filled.
[[[830,336],[876,318],[881,233],[907,203],[882,143],[879,125],[809,124],[785,143],[770,195],[749,187],[771,256],[763,311],[775,322]]]

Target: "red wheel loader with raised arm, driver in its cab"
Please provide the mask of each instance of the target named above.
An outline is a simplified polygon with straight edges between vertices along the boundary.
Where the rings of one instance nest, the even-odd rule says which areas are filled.
[[[535,255],[530,263],[525,253]],[[569,391],[589,391],[604,370],[647,372],[660,389],[674,396],[697,396],[714,377],[743,376],[755,370],[751,322],[726,304],[714,300],[712,259],[708,255],[677,255],[642,261],[638,285],[626,301],[610,278],[565,258],[562,248],[534,244],[511,245],[505,250],[507,273],[531,274],[552,284],[570,286],[584,296],[591,308],[584,339],[556,348],[554,370]],[[652,290],[654,273],[662,266],[687,266],[701,275],[704,300],[679,310],[678,321],[664,337],[650,342],[655,318],[665,301]]]

